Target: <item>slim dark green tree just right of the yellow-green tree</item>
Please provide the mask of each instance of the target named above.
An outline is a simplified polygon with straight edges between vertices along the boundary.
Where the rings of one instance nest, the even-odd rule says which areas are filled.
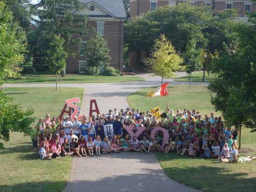
[[[192,73],[196,70],[202,69],[202,49],[196,48],[196,41],[191,40],[186,46],[186,52],[182,55],[183,57],[183,65],[185,66],[185,70],[188,74],[190,74],[190,83],[191,86],[192,81]]]

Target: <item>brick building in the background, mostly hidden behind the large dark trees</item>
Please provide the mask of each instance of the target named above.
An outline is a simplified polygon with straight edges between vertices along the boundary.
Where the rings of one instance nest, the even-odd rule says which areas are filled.
[[[153,11],[157,7],[165,5],[175,6],[177,3],[183,3],[183,0],[130,0],[130,16],[141,17],[141,13]],[[195,0],[190,1],[193,6],[208,6],[210,10],[222,11],[225,9],[233,8],[238,10],[240,20],[247,21],[248,17],[244,14],[246,11],[255,12],[256,6],[250,0]],[[145,60],[143,50],[134,51],[129,56],[130,64],[137,69],[141,68],[141,62]]]

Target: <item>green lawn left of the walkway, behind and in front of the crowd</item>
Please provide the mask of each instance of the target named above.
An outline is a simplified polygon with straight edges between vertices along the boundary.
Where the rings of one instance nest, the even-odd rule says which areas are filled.
[[[83,89],[60,87],[55,92],[47,87],[5,87],[4,93],[13,96],[13,103],[19,102],[23,108],[32,106],[37,122],[47,113],[51,118],[59,116],[66,99],[82,100]],[[17,132],[11,132],[10,141],[4,145],[6,149],[0,150],[1,192],[61,192],[67,185],[72,157],[40,160],[30,137]]]

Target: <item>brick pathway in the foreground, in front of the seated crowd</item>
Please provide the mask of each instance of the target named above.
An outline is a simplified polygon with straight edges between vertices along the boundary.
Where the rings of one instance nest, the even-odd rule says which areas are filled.
[[[74,180],[68,182],[63,192],[199,192],[168,178],[153,152],[74,157],[73,164]]]

